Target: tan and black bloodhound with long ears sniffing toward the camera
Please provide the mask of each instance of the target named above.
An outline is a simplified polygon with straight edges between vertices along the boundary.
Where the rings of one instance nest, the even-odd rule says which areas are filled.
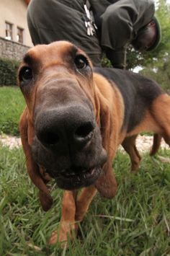
[[[60,234],[54,231],[50,244],[66,241],[97,191],[115,196],[112,160],[120,144],[133,171],[140,162],[138,133],[152,131],[170,145],[170,97],[140,74],[94,69],[84,51],[66,41],[28,50],[18,82],[27,104],[19,123],[27,172],[45,211],[53,203],[48,180],[66,190]]]

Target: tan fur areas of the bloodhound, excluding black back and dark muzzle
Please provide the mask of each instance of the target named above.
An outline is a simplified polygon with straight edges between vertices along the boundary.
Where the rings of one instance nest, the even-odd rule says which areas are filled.
[[[63,78],[65,74],[69,74],[72,77],[74,76],[72,71],[70,69],[66,70],[66,68],[63,69],[62,66],[63,58],[66,58],[71,47],[71,44],[67,42],[53,43],[48,46],[39,45],[29,50],[27,56],[30,56],[32,61],[36,60],[39,63],[40,74],[42,70],[47,69],[48,74],[51,72],[50,77],[53,79],[52,70],[59,69],[60,72],[58,74]],[[83,52],[79,50],[79,53]],[[78,80],[80,81],[78,86],[81,87],[81,92],[86,94],[94,107],[96,120],[102,134],[102,144],[104,149],[107,150],[108,159],[104,164],[102,175],[94,185],[85,187],[79,195],[77,191],[64,192],[60,234],[54,231],[50,237],[50,244],[54,244],[58,240],[66,242],[67,235],[73,237],[73,232],[77,231],[79,221],[84,219],[84,215],[88,211],[91,200],[96,195],[97,190],[106,198],[115,196],[117,182],[112,171],[112,160],[115,158],[119,144],[122,144],[130,155],[132,171],[138,169],[140,162],[140,155],[135,146],[135,138],[138,133],[141,131],[153,131],[163,136],[166,143],[170,145],[170,97],[167,94],[162,94],[158,97],[153,102],[151,110],[146,112],[140,124],[130,133],[126,133],[126,131],[122,130],[125,105],[117,87],[114,84],[111,86],[109,81],[99,74],[94,74],[89,84],[86,82],[86,77],[79,77]],[[43,89],[42,84],[43,81],[39,75],[31,96],[29,93],[23,92],[27,107],[21,116],[19,128],[26,156],[27,172],[32,182],[39,189],[42,208],[48,211],[53,203],[47,187],[50,177],[45,173],[43,167],[35,163],[31,153],[32,139],[35,133],[33,112],[35,105],[38,104],[37,94],[40,94]],[[41,100],[40,97],[39,100]]]

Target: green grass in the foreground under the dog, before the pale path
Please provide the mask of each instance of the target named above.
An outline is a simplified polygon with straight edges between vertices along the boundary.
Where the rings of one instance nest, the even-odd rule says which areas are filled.
[[[160,151],[169,156],[169,151]],[[81,224],[80,236],[68,250],[48,247],[58,229],[62,191],[54,189],[53,208],[40,208],[37,189],[27,176],[22,149],[0,148],[0,255],[170,255],[169,164],[143,156],[138,173],[131,174],[128,156],[114,162],[117,195],[99,195]],[[53,183],[52,183],[53,185]],[[30,247],[40,247],[40,252]]]

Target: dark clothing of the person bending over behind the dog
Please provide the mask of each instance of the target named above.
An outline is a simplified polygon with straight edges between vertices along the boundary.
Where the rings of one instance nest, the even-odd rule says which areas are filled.
[[[98,27],[97,33],[89,36],[84,22],[85,2],[32,0],[27,22],[34,45],[68,40],[86,51],[95,66],[100,66],[102,49],[123,51],[154,14],[151,0],[89,0]]]

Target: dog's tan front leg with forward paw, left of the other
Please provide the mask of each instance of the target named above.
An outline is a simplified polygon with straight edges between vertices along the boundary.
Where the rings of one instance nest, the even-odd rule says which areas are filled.
[[[64,191],[60,230],[59,233],[58,231],[53,231],[49,244],[63,242],[63,245],[66,245],[68,236],[70,239],[73,239],[73,232],[75,231],[76,194],[76,191]]]

